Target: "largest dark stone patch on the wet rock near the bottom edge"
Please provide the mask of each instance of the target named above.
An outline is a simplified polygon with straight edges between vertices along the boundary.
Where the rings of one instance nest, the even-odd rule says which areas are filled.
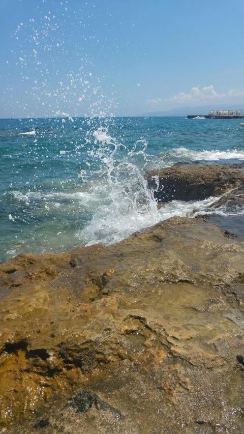
[[[88,390],[81,390],[78,395],[76,395],[66,404],[65,408],[73,407],[77,412],[86,413],[93,406],[93,404],[95,404],[95,407],[98,411],[110,410],[116,419],[124,419],[123,415],[121,415],[118,410],[109,406],[109,404],[100,399],[96,393],[90,392]]]

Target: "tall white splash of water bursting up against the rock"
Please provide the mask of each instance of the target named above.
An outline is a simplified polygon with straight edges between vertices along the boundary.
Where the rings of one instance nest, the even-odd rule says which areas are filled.
[[[100,206],[92,221],[77,237],[87,245],[102,242],[111,244],[131,235],[135,230],[158,221],[157,203],[147,188],[142,171],[133,164],[133,157],[142,155],[144,166],[147,144],[138,140],[132,151],[108,135],[107,128],[93,133],[95,144],[100,143],[95,158],[100,159],[99,177],[102,188],[108,191],[109,204]],[[138,146],[142,144],[142,149]]]

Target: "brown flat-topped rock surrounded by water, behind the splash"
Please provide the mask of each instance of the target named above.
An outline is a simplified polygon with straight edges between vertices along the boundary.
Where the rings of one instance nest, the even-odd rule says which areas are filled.
[[[148,171],[146,178],[158,202],[202,200],[244,184],[243,167],[234,164],[165,167]]]

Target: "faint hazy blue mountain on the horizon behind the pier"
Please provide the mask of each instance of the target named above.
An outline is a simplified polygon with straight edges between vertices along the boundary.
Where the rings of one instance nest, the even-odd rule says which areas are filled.
[[[228,105],[228,107],[227,107]],[[202,105],[197,107],[176,107],[166,111],[148,111],[146,113],[139,114],[139,116],[187,116],[188,114],[208,114],[210,110],[244,110],[244,105],[236,104],[212,104]]]

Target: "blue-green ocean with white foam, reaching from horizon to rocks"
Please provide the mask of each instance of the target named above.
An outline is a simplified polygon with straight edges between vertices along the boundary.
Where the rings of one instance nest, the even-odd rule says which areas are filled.
[[[211,213],[216,198],[159,208],[144,174],[178,162],[243,163],[239,123],[178,117],[0,120],[0,261],[20,252],[112,244],[172,216]],[[230,215],[238,222],[244,209],[215,210],[217,222]]]

